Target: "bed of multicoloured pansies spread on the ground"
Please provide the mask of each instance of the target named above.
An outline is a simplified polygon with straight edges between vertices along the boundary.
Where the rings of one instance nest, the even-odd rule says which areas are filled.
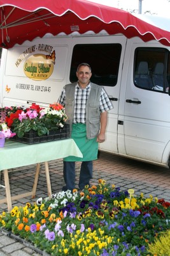
[[[170,203],[129,193],[100,179],[80,193],[15,206],[1,214],[0,227],[55,256],[153,255],[149,244],[170,228]]]

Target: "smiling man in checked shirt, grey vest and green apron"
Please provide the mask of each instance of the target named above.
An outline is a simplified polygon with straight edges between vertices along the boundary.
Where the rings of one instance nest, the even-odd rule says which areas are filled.
[[[78,82],[66,84],[58,102],[65,106],[68,122],[71,125],[71,138],[81,150],[83,158],[69,156],[64,158],[63,190],[75,188],[75,162],[81,161],[79,188],[82,190],[92,179],[92,161],[97,159],[98,143],[105,141],[107,111],[112,109],[110,99],[104,89],[90,82],[90,65],[78,65]]]

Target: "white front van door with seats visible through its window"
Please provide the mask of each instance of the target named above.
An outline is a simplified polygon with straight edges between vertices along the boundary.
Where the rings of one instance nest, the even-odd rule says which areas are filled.
[[[160,44],[145,43],[145,47],[132,44],[129,53],[125,150],[128,156],[162,163],[170,140],[169,51]]]

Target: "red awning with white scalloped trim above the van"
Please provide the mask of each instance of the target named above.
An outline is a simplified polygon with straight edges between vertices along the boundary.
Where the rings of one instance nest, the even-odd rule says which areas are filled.
[[[0,46],[6,49],[46,33],[122,33],[170,45],[170,32],[129,12],[85,0],[0,0]]]

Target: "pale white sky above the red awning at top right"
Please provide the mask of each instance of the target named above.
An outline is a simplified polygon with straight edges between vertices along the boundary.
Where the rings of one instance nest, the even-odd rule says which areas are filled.
[[[94,3],[100,3],[116,8],[123,9],[127,12],[135,10],[138,13],[139,0],[89,0]],[[170,17],[170,1],[168,0],[143,0],[141,2],[142,13],[149,11],[152,15],[160,17]]]

